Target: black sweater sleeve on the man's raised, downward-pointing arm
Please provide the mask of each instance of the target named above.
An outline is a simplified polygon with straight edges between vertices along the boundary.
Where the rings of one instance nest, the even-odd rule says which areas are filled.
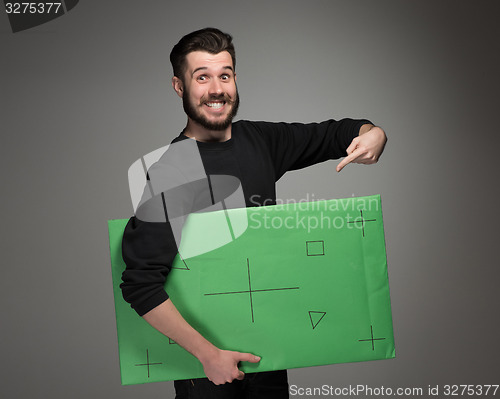
[[[276,180],[289,170],[301,169],[347,155],[366,119],[327,120],[320,123],[254,122],[274,163]]]

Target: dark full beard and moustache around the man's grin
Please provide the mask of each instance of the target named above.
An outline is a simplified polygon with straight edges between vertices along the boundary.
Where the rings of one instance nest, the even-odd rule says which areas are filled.
[[[205,116],[199,112],[198,105],[194,105],[189,101],[189,91],[184,89],[184,93],[182,95],[182,106],[184,107],[184,112],[186,115],[191,118],[194,122],[203,126],[207,130],[225,130],[231,125],[234,117],[238,113],[238,108],[240,106],[240,95],[238,93],[238,88],[236,88],[236,95],[234,100],[232,100],[226,93],[220,94],[218,96],[210,96],[209,98],[203,97],[201,99],[200,105],[203,106],[205,102],[210,100],[223,100],[226,102],[226,105],[231,107],[231,110],[227,114],[226,118],[221,121],[209,121]]]

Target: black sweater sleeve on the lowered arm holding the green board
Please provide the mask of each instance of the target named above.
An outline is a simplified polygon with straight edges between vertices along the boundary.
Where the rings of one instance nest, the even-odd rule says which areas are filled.
[[[170,146],[148,169],[142,199],[123,233],[122,256],[126,268],[120,288],[125,301],[140,316],[168,299],[165,281],[195,198],[191,185],[196,182],[189,184],[180,171],[181,163],[189,155],[189,148],[185,147],[192,146],[190,142],[184,144]],[[191,161],[189,165],[193,164]],[[198,164],[193,167],[202,168]]]

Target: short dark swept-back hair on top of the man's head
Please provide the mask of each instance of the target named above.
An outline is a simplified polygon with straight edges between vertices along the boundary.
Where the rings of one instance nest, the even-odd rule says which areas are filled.
[[[170,63],[174,70],[174,76],[184,80],[186,56],[193,51],[206,51],[211,54],[227,51],[231,54],[233,68],[236,67],[236,54],[232,36],[216,28],[205,28],[188,33],[179,40],[179,43],[170,52]]]

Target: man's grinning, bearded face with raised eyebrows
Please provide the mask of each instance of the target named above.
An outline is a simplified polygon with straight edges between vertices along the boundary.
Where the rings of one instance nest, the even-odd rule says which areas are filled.
[[[186,56],[182,104],[193,121],[208,130],[224,130],[238,112],[233,61],[227,51],[193,51]]]

